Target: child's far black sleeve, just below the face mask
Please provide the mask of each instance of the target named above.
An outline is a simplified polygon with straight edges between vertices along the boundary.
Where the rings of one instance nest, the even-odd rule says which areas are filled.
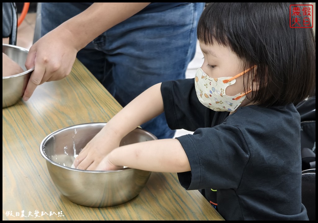
[[[195,131],[211,126],[215,112],[199,102],[194,78],[162,82],[161,94],[169,128]]]

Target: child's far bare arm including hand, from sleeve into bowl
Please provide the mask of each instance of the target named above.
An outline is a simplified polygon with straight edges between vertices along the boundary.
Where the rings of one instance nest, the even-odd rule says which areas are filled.
[[[123,137],[142,123],[161,114],[163,101],[160,87],[161,84],[150,87],[111,118],[82,149],[74,161],[74,167],[96,169],[102,159],[120,145]]]

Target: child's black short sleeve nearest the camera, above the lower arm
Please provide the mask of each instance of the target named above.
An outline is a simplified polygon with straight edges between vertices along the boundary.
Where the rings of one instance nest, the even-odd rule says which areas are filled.
[[[221,124],[199,128],[176,138],[187,154],[191,171],[178,173],[187,190],[238,188],[250,151],[239,128]]]

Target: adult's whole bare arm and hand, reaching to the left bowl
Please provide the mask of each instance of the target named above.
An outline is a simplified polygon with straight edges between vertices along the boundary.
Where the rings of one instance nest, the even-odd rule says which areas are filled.
[[[93,3],[86,10],[41,37],[29,50],[25,62],[34,68],[23,100],[46,81],[60,80],[72,69],[76,54],[97,36],[145,8],[148,3]]]

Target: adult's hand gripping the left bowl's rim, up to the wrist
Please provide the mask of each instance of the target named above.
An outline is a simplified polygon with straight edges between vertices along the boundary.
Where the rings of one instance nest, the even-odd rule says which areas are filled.
[[[38,85],[69,75],[79,51],[73,46],[72,37],[68,30],[58,27],[31,46],[25,67],[34,67],[34,71],[24,91],[24,101],[31,97]]]

